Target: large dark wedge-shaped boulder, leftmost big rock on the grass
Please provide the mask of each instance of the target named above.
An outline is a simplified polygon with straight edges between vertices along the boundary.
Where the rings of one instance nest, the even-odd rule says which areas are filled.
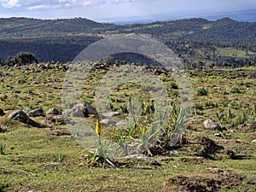
[[[39,128],[42,127],[42,125],[40,125],[36,121],[30,119],[26,115],[26,113],[24,113],[21,110],[18,110],[18,111],[15,111],[13,113],[10,113],[9,116],[7,117],[7,119],[17,120],[17,121],[20,121],[21,123],[24,123],[26,125],[31,125],[31,126],[35,126],[35,127],[39,127]]]

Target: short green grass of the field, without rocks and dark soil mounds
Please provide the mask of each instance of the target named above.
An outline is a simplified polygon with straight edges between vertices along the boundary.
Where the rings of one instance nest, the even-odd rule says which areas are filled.
[[[242,70],[244,73],[255,73],[253,67]],[[0,78],[3,80],[0,86],[2,100],[0,108],[3,108],[7,115],[16,109],[42,107],[45,112],[49,108],[61,109],[61,89],[59,88],[65,73],[43,71],[26,76],[19,70],[7,72],[2,68],[0,73],[12,75]],[[104,72],[101,72],[100,76],[102,75]],[[25,82],[22,79],[25,79]],[[95,91],[95,82],[98,82],[98,79],[99,77],[88,79],[89,82],[84,89],[84,96],[88,98],[81,102],[89,101],[92,105],[94,104],[94,97],[90,93]],[[41,191],[163,191],[164,183],[168,179],[176,176],[191,178],[198,175],[207,176],[209,167],[218,167],[246,176],[245,182],[249,177],[255,178],[256,170],[253,167],[256,161],[256,145],[251,143],[256,137],[255,128],[239,128],[238,125],[232,124],[236,117],[242,115],[241,112],[253,110],[253,103],[255,104],[256,101],[256,94],[253,94],[256,87],[255,79],[229,79],[224,76],[211,79],[202,75],[191,77],[190,80],[194,90],[203,87],[207,89],[207,94],[198,96],[196,91],[194,93],[197,113],[194,112],[195,122],[191,123],[185,135],[190,143],[178,148],[177,154],[170,154],[167,151],[165,154],[154,155],[154,160],[158,160],[162,166],[148,166],[140,161],[121,164],[122,161],[120,161],[120,165],[114,168],[88,167],[84,165],[84,155],[88,154],[87,148],[82,148],[72,136],[53,134],[54,131],[68,132],[65,125],[54,125],[51,129],[38,129],[7,120],[7,115],[1,117],[1,124],[5,125],[8,131],[0,133],[0,145],[5,146],[4,154],[0,154],[0,191],[17,191],[25,186]],[[39,84],[32,83],[35,81]],[[166,81],[166,84],[173,83],[172,79],[166,79]],[[232,91],[234,87],[239,91],[237,89]],[[12,90],[20,90],[20,93],[11,93]],[[139,96],[140,91],[143,92],[140,86],[123,84],[119,90],[113,92],[112,97],[118,96],[124,103],[116,102],[114,99],[110,102],[113,108],[118,110],[120,106],[127,104],[129,96]],[[145,91],[142,96],[149,101],[150,97],[147,97]],[[222,125],[226,127],[224,131],[207,130],[198,120],[210,118],[218,122],[216,113],[227,114],[229,109],[234,117]],[[251,118],[253,122],[255,113],[253,111],[251,116],[247,113],[247,119]],[[122,114],[122,117],[125,115]],[[40,122],[44,118],[34,119]],[[95,119],[90,117],[89,120],[94,129]],[[139,128],[137,128],[137,134],[143,134]],[[118,132],[106,125],[102,126],[103,136]],[[214,137],[213,134],[216,132],[221,132],[223,137]],[[136,132],[133,134],[136,135]],[[224,147],[216,154],[212,154],[216,160],[207,157],[200,159],[196,155],[204,148],[199,141],[205,136]],[[230,159],[226,154],[228,150],[245,158]],[[243,181],[237,181],[237,184],[240,189],[247,188]],[[231,189],[221,190],[232,191]]]

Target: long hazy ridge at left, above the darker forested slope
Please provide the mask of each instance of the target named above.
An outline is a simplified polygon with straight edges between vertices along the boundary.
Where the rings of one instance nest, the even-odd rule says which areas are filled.
[[[113,27],[111,24],[101,24],[93,20],[82,18],[61,20],[38,20],[30,18],[0,19],[0,34],[6,37],[10,34],[19,37],[23,34],[30,36],[44,36],[45,34],[93,32],[105,27]]]

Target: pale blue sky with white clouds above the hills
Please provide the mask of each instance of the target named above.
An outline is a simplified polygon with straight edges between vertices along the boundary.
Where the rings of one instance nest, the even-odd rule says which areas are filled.
[[[255,0],[0,0],[0,17],[96,21],[196,17],[256,8]]]

